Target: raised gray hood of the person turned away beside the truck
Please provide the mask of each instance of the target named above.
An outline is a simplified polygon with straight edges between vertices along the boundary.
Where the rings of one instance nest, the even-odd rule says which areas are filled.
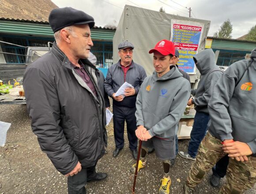
[[[201,75],[206,75],[209,70],[216,67],[215,54],[212,49],[206,49],[193,57],[196,67]]]

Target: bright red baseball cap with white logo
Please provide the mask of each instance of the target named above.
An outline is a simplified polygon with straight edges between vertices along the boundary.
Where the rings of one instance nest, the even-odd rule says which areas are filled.
[[[169,54],[172,54],[173,56],[175,55],[175,47],[173,45],[173,42],[168,41],[168,40],[162,40],[159,41],[153,49],[149,51],[149,54],[152,52],[158,51],[162,55],[166,56]]]

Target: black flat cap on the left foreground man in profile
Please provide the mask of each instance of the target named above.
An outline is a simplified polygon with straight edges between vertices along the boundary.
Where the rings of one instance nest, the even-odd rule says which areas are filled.
[[[88,24],[92,28],[95,24],[94,18],[83,11],[72,7],[56,8],[50,12],[49,24],[55,33],[64,27],[72,25]]]

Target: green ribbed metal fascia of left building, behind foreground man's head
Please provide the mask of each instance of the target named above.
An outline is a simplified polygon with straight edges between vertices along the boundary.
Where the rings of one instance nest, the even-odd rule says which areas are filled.
[[[36,36],[53,37],[53,30],[49,23],[17,22],[0,20],[0,33],[29,34]],[[113,41],[115,30],[94,26],[91,29],[91,37],[94,40]]]

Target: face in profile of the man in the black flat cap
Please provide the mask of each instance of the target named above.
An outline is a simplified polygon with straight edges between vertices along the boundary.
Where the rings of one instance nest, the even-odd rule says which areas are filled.
[[[74,35],[70,35],[70,49],[78,59],[87,59],[90,56],[90,47],[93,46],[88,24],[73,26]]]

